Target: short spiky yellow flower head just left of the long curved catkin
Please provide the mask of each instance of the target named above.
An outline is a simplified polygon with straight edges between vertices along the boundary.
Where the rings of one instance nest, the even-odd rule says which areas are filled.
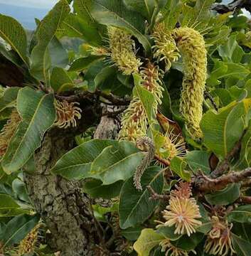
[[[171,68],[171,63],[178,60],[180,57],[176,42],[171,35],[171,31],[165,28],[164,23],[156,24],[154,32],[151,36],[154,39],[155,46],[154,58],[164,61],[166,64],[166,71]]]

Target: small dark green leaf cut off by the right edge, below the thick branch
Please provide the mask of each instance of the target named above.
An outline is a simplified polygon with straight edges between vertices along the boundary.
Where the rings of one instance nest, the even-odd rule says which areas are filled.
[[[228,214],[230,223],[251,223],[251,206],[239,206]]]

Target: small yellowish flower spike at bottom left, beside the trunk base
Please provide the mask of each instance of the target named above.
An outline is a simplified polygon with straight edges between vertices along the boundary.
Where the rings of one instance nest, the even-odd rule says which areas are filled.
[[[34,252],[36,249],[36,243],[38,241],[38,228],[40,225],[36,225],[33,230],[31,230],[28,235],[26,235],[23,240],[21,240],[20,244],[18,245],[18,256],[24,255],[26,253]]]

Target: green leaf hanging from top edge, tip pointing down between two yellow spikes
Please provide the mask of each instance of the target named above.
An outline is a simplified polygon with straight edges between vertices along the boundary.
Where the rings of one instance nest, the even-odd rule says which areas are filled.
[[[146,53],[151,53],[151,43],[144,35],[144,18],[124,6],[123,0],[93,0],[92,16],[107,26],[125,28],[136,36],[144,46]]]

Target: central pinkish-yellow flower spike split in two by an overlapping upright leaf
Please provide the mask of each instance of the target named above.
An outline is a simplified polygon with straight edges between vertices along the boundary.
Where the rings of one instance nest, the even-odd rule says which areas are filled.
[[[159,72],[159,68],[152,63],[148,63],[145,68],[141,69],[140,75],[142,78],[141,86],[154,95],[155,101],[152,107],[154,114],[156,114],[162,97],[161,73]],[[123,114],[122,129],[119,132],[119,138],[136,141],[144,137],[147,132],[147,124],[144,106],[139,97],[134,96],[129,107]]]

